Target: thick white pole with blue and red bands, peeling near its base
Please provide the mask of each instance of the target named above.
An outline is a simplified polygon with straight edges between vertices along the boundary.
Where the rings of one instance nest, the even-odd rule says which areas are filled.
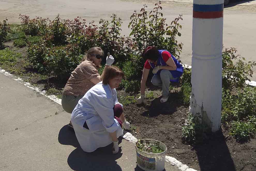
[[[193,1],[190,111],[212,132],[221,123],[223,3]]]

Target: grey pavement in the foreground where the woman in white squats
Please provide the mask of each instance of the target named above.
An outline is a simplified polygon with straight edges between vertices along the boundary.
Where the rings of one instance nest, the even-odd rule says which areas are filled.
[[[1,73],[0,80],[0,170],[142,171],[133,143],[120,139],[117,155],[111,146],[86,153],[61,105]],[[165,168],[179,171],[169,163]]]

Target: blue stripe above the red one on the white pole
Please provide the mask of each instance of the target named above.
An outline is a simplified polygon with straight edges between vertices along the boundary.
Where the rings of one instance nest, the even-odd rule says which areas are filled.
[[[217,5],[193,4],[193,11],[198,11],[198,12],[223,11],[223,9],[224,9],[224,4],[217,4]]]

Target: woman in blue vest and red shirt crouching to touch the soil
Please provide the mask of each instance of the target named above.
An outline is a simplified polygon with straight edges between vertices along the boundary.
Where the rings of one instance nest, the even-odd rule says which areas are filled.
[[[164,103],[169,98],[170,81],[178,82],[184,69],[177,59],[166,50],[157,50],[153,46],[148,46],[142,56],[146,59],[146,62],[140,82],[141,95],[138,98],[138,103],[141,104],[145,98],[145,85],[150,68],[153,69],[152,72],[154,74],[151,82],[155,86],[162,87],[160,102]]]

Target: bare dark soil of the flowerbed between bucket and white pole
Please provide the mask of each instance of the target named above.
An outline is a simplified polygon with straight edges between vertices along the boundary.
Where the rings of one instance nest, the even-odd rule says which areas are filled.
[[[146,99],[141,105],[125,106],[126,119],[133,125],[130,132],[138,139],[152,138],[163,142],[167,146],[167,155],[196,170],[256,170],[255,139],[239,144],[229,136],[229,130],[222,129],[215,134],[204,134],[197,143],[186,143],[181,133],[189,108],[176,100],[179,99],[177,95],[171,93],[166,103],[160,103],[159,97]]]

